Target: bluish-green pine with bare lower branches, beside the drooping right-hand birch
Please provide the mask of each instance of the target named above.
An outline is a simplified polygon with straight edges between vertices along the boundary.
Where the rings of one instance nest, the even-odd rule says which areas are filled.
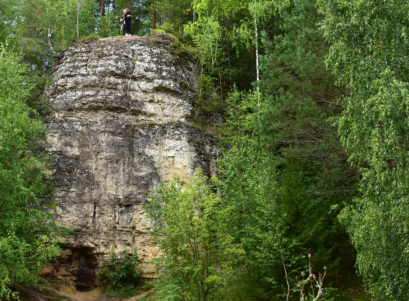
[[[263,39],[267,54],[261,57],[258,85],[265,103],[256,129],[263,141],[278,150],[281,162],[288,157],[304,162],[303,169],[311,173],[312,194],[339,204],[346,190],[342,185],[351,188],[357,174],[348,168],[333,126],[342,111],[338,99],[346,91],[326,71],[324,55],[329,46],[315,26],[321,20],[315,1],[293,4],[290,11],[282,11],[283,34]]]

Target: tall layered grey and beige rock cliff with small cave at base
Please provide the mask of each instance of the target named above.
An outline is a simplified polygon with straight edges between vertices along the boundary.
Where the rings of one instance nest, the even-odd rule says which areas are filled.
[[[44,274],[92,290],[107,252],[137,248],[145,276],[157,254],[142,203],[161,180],[209,173],[215,150],[190,121],[197,75],[167,35],[123,36],[71,47],[45,91],[52,118],[58,223],[74,228]],[[187,88],[189,87],[189,91]]]

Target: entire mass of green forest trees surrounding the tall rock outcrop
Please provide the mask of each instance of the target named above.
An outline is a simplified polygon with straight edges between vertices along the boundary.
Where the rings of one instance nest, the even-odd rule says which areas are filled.
[[[197,170],[147,204],[159,299],[296,300],[312,253],[314,270],[328,267],[319,298],[352,300],[355,285],[407,300],[402,0],[1,1],[0,297],[35,281],[61,242],[51,159],[37,150],[40,78],[77,39],[119,35],[126,7],[133,34],[172,34],[174,55],[196,63],[189,122],[218,132],[221,150],[217,180]]]

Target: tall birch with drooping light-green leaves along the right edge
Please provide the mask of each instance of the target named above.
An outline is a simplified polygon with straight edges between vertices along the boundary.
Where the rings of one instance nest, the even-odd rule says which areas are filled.
[[[409,298],[408,3],[319,1],[328,66],[352,93],[339,134],[362,172],[362,195],[341,219],[375,300]]]

